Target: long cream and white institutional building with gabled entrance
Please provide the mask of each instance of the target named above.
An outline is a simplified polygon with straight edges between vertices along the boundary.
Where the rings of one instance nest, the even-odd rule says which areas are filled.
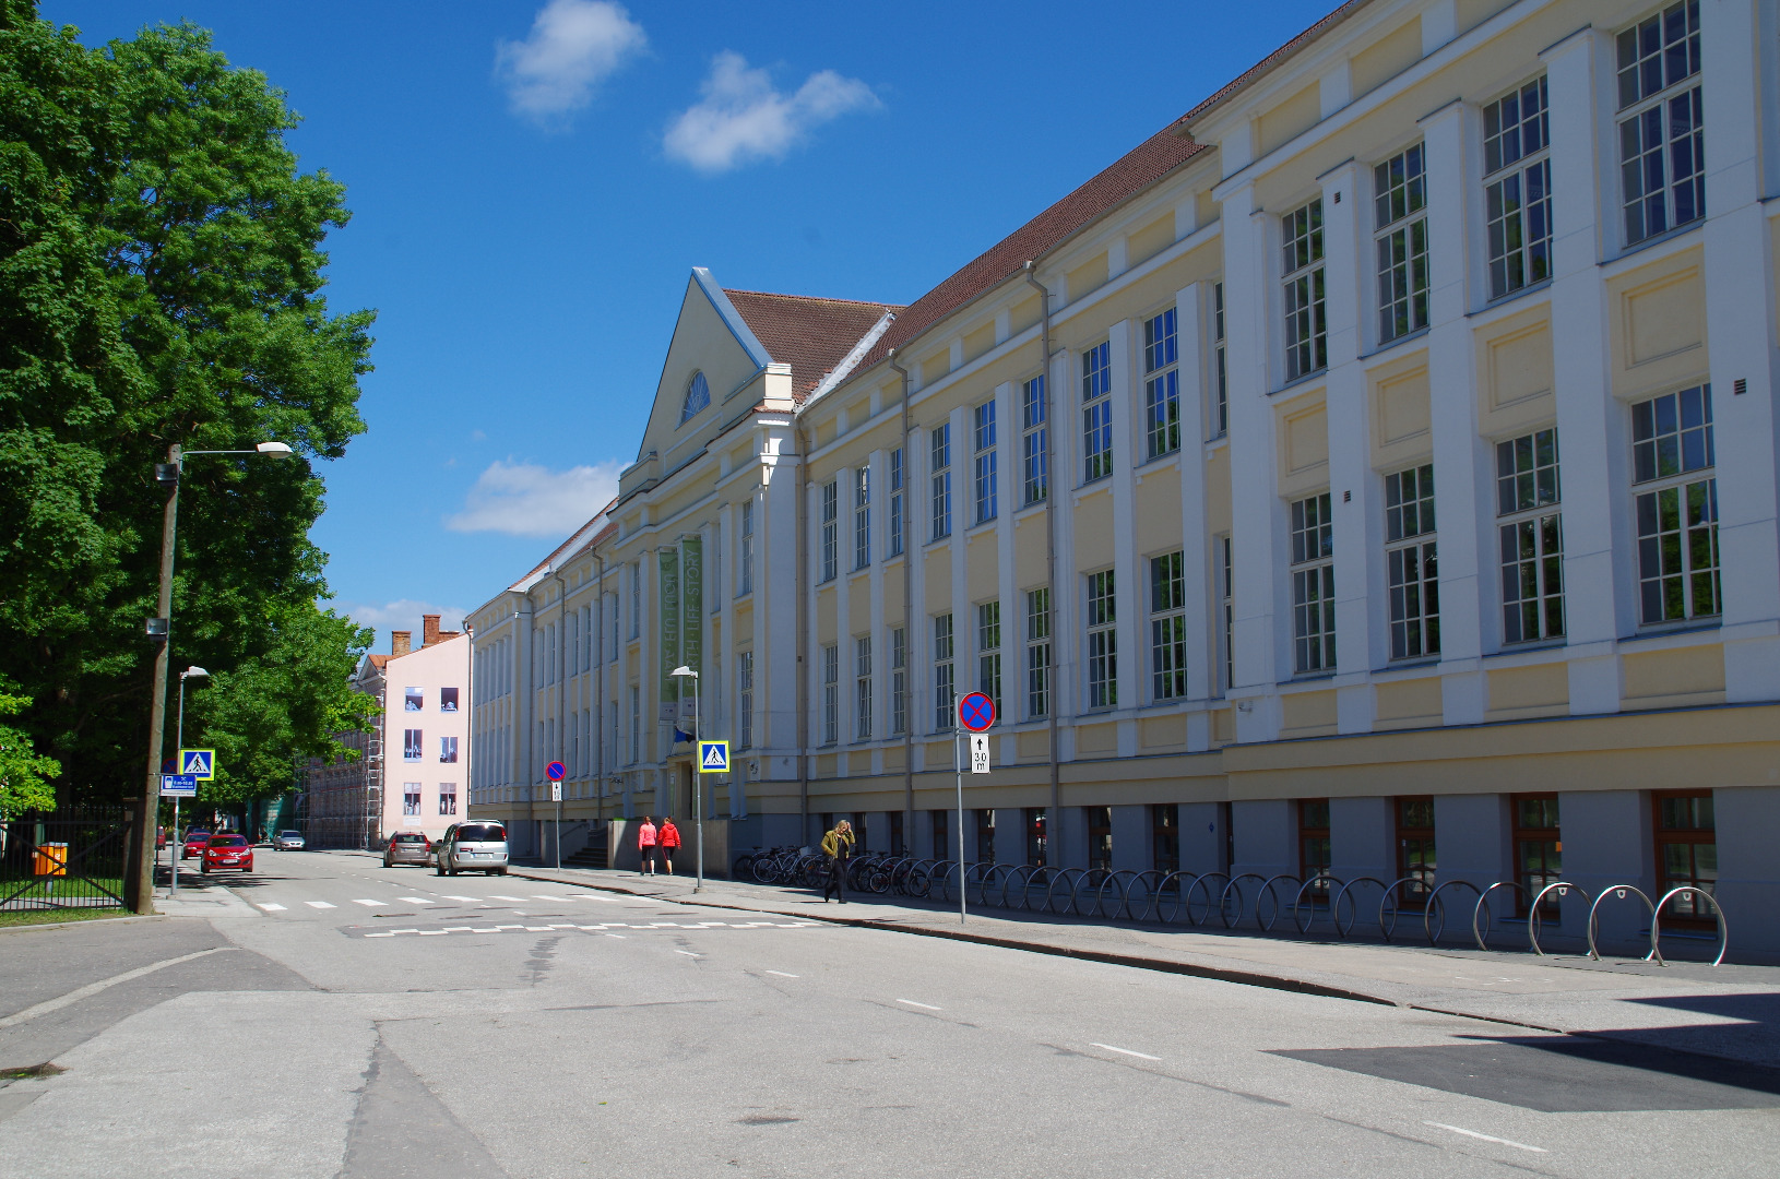
[[[694,270],[616,501],[468,621],[472,813],[687,816],[685,665],[733,846],[1698,884],[1780,948],[1776,44],[1356,0],[910,306]]]

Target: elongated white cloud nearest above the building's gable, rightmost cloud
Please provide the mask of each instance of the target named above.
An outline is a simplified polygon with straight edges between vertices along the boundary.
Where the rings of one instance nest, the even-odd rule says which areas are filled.
[[[783,94],[765,69],[749,69],[732,50],[712,59],[700,92],[703,100],[675,117],[664,140],[669,156],[700,172],[783,160],[813,128],[849,110],[881,107],[869,85],[833,69],[813,73],[796,94]]]

